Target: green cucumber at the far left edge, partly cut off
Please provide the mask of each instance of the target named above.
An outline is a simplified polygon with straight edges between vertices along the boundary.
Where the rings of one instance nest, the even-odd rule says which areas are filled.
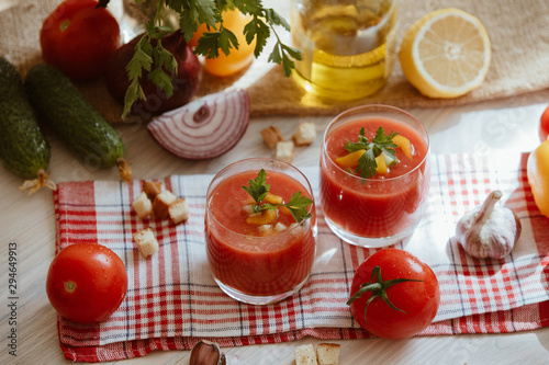
[[[47,178],[51,148],[40,129],[21,75],[0,57],[0,157],[7,170],[27,179],[21,190],[30,194],[41,186],[55,189]]]

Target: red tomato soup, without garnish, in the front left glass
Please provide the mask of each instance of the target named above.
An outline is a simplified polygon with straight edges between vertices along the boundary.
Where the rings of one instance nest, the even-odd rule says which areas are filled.
[[[219,282],[246,295],[269,296],[291,290],[307,278],[316,247],[315,216],[295,225],[289,210],[279,208],[269,225],[287,227],[280,231],[266,232],[265,227],[247,223],[249,213],[244,207],[253,199],[242,186],[257,174],[238,172],[214,187],[208,202],[205,240],[210,269]],[[267,184],[269,193],[284,203],[299,191],[312,198],[300,182],[280,172],[267,170]],[[314,213],[314,206],[311,209]]]

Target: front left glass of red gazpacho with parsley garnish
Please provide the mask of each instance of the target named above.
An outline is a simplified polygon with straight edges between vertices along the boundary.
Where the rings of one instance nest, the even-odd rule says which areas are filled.
[[[208,187],[208,262],[231,297],[271,304],[305,284],[316,250],[311,185],[293,166],[267,158],[235,162]]]

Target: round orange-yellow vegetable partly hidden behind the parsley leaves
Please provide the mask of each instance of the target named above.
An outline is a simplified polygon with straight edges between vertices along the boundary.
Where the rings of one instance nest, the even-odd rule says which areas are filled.
[[[251,15],[245,15],[237,9],[227,9],[222,12],[222,18],[223,26],[233,32],[238,39],[238,49],[231,48],[228,55],[220,50],[217,57],[204,59],[205,70],[219,77],[231,76],[248,67],[254,61],[254,48],[256,46],[255,41],[248,44],[244,36],[244,26],[253,20]],[[201,24],[189,45],[195,47],[198,39],[204,32],[213,32],[213,30],[209,31],[205,24]]]

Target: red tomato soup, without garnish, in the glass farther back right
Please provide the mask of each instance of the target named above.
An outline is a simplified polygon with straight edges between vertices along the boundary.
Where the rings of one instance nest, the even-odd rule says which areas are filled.
[[[386,135],[397,132],[411,141],[412,159],[396,148],[399,163],[389,167],[388,173],[366,180],[337,166],[335,159],[348,153],[344,148],[347,140],[357,141],[362,127],[371,140],[380,126]],[[428,191],[429,169],[427,142],[413,127],[391,118],[362,117],[337,126],[326,136],[324,147],[320,184],[326,219],[347,232],[368,238],[400,235],[417,224]]]

